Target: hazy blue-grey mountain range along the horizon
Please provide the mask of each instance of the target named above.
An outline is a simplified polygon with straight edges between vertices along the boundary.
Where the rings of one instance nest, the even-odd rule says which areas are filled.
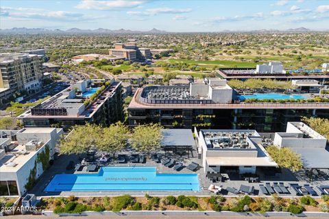
[[[241,30],[241,31],[232,31],[232,30],[223,30],[223,31],[213,31],[219,33],[275,33],[275,32],[293,32],[293,33],[304,33],[304,32],[313,32],[315,30],[307,29],[305,27],[299,27],[294,29],[256,29],[256,30]],[[329,29],[325,30],[329,31]],[[11,34],[166,34],[170,33],[169,31],[164,31],[160,29],[153,28],[149,31],[136,31],[130,29],[45,29],[45,28],[26,28],[26,27],[14,27],[12,29],[0,29],[0,33],[11,33]]]

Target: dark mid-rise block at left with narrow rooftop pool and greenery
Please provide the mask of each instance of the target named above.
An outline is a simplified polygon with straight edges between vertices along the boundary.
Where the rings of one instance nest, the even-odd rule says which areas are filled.
[[[121,82],[114,79],[78,81],[17,117],[25,127],[62,127],[123,120]]]

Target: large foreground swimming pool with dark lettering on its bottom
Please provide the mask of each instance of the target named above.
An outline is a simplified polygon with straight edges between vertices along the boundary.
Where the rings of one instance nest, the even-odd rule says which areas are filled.
[[[98,173],[55,175],[45,192],[199,191],[197,174],[157,173],[156,167],[103,167]]]

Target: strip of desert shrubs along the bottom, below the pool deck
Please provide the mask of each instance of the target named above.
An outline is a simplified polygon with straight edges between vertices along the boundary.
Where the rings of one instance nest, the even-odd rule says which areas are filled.
[[[315,201],[310,196],[302,198],[282,198],[276,195],[271,197],[197,197],[197,196],[166,196],[157,197],[132,197],[130,195],[99,198],[45,198],[42,199],[41,209],[52,209],[55,214],[71,213],[79,214],[83,211],[165,211],[165,210],[199,210],[199,211],[234,211],[234,212],[260,212],[286,211],[292,214],[300,214],[312,206],[318,211],[329,212],[329,196],[323,196]]]

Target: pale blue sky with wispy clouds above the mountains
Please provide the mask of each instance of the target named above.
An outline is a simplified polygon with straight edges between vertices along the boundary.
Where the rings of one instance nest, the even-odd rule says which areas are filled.
[[[0,29],[329,29],[329,0],[0,0]]]

